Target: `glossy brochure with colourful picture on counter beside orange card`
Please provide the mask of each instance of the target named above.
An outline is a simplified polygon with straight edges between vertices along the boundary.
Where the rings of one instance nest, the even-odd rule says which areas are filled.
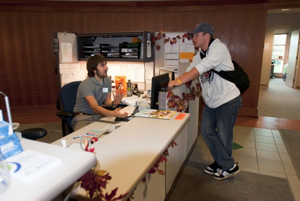
[[[152,109],[143,109],[142,111],[134,114],[135,117],[149,117],[157,119],[171,119],[176,111],[170,110],[152,110]]]

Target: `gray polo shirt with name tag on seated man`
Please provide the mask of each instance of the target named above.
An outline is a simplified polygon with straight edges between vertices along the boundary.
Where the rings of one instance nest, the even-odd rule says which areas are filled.
[[[90,77],[82,81],[78,87],[76,95],[76,104],[73,112],[83,112],[85,114],[95,114],[85,96],[94,96],[99,106],[107,98],[107,94],[112,91],[112,81],[109,77],[103,78],[103,83],[99,82],[95,77]]]

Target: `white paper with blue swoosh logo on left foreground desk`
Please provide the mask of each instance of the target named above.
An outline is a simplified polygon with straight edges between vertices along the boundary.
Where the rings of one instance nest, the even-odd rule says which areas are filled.
[[[10,176],[29,183],[61,163],[61,159],[26,150],[6,159],[10,166]]]

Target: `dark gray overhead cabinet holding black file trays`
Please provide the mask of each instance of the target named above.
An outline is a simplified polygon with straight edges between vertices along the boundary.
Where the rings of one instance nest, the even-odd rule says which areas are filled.
[[[77,34],[78,60],[102,55],[107,61],[152,62],[152,37],[154,33],[146,31]]]

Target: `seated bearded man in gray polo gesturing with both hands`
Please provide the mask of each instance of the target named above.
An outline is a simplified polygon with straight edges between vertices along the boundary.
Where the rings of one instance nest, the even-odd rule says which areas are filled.
[[[107,62],[104,56],[95,55],[88,59],[86,69],[88,78],[82,81],[78,87],[76,104],[73,112],[76,116],[71,125],[73,131],[87,126],[104,116],[125,118],[128,113],[121,113],[121,108],[113,111],[102,107],[112,107],[119,105],[125,94],[114,94],[111,100],[112,81],[107,77]]]

